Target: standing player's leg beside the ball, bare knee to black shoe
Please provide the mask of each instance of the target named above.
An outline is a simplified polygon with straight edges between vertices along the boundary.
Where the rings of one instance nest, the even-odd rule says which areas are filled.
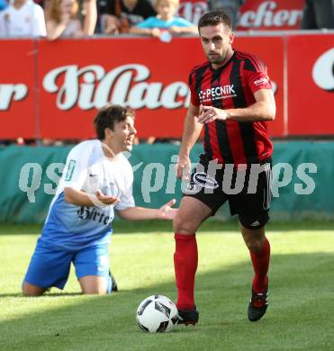
[[[211,213],[212,210],[203,202],[185,196],[173,221],[176,239],[176,307],[180,324],[195,324],[198,321],[199,313],[194,304],[194,275],[198,263],[195,232]]]

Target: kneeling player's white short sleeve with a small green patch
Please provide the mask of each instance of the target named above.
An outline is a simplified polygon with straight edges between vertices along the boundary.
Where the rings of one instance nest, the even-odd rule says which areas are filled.
[[[63,173],[64,187],[81,190],[88,175],[89,152],[83,150],[80,145],[72,148],[68,154],[68,159]]]

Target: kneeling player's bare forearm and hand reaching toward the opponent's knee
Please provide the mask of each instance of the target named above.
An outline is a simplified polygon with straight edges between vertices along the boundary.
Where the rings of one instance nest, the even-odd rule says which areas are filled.
[[[170,200],[159,209],[129,207],[124,210],[118,210],[118,214],[123,220],[173,220],[178,211],[178,209],[172,208],[175,203],[175,199]]]

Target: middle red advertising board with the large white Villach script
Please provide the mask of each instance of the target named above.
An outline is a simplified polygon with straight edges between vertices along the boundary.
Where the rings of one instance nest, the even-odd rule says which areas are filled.
[[[283,44],[280,38],[239,38],[271,68],[277,88],[272,135],[283,132]],[[62,40],[39,43],[41,135],[94,136],[92,119],[107,102],[136,110],[140,138],[180,137],[189,103],[188,74],[205,61],[200,40]],[[61,55],[57,53],[61,52]],[[149,53],[149,54],[148,54]],[[53,122],[50,122],[53,121]]]

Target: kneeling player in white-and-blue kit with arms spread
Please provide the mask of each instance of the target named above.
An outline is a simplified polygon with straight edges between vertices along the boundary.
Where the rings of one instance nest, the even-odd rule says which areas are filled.
[[[23,281],[23,295],[63,289],[71,262],[83,293],[111,293],[108,245],[114,209],[125,220],[172,220],[176,209],[136,207],[133,173],[123,151],[130,151],[134,113],[104,106],[95,117],[97,139],[79,143],[68,154],[64,173]]]

